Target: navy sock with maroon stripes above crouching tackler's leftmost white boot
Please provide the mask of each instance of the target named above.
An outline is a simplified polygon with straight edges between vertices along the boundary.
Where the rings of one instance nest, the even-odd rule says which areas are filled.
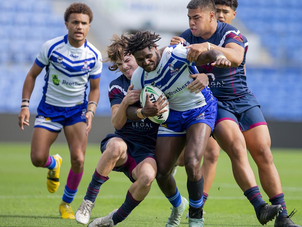
[[[98,174],[95,169],[94,174],[92,175],[91,182],[87,188],[86,196],[84,197],[85,200],[90,200],[91,202],[95,202],[96,197],[98,196],[98,192],[100,191],[100,187],[106,180],[108,180],[108,176],[102,176]]]

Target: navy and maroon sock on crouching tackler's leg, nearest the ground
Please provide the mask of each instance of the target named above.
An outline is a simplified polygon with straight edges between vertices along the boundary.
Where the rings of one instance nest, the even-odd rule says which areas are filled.
[[[133,211],[134,208],[136,208],[141,201],[135,200],[131,193],[128,191],[126,195],[125,202],[120,206],[120,208],[115,212],[112,216],[112,220],[114,225],[117,225],[117,223],[124,221],[127,216]]]

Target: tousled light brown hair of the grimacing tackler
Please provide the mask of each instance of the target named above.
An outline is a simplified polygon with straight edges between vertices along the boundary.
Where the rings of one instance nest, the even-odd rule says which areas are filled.
[[[122,37],[129,37],[127,33],[122,34]],[[112,65],[108,66],[108,69],[110,71],[116,71],[118,69],[116,62],[117,61],[123,61],[124,56],[125,56],[125,47],[126,44],[124,42],[124,39],[113,34],[112,37],[109,39],[110,45],[107,46],[107,49],[105,52],[107,52],[108,58],[104,58],[102,62],[111,62]]]

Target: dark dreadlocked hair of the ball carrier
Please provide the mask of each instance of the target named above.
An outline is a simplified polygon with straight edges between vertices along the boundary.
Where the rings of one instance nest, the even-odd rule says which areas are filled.
[[[130,37],[126,37],[122,35],[122,38],[125,40],[126,48],[125,48],[125,55],[126,54],[133,54],[135,51],[140,51],[145,49],[146,47],[156,47],[156,42],[159,41],[161,38],[159,34],[152,34],[150,31],[137,31],[135,35],[131,35]]]

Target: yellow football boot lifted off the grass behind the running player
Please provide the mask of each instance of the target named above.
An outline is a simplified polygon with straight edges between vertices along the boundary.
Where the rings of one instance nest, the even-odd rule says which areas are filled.
[[[48,170],[46,181],[47,189],[50,193],[56,192],[59,188],[59,175],[62,163],[62,158],[59,154],[53,155],[53,158],[56,160],[56,166],[53,169]]]

